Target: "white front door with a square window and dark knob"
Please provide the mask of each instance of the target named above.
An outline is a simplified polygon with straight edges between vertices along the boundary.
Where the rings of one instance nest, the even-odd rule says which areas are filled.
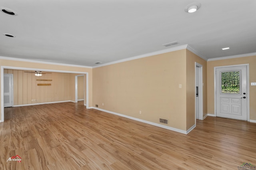
[[[216,116],[247,121],[246,65],[216,68]]]

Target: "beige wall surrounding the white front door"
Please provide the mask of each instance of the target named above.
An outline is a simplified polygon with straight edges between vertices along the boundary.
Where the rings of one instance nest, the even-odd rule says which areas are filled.
[[[222,59],[207,62],[207,101],[208,113],[214,114],[214,67],[225,65],[249,64],[249,81],[256,82],[256,56]],[[256,120],[256,86],[250,85],[250,120]]]

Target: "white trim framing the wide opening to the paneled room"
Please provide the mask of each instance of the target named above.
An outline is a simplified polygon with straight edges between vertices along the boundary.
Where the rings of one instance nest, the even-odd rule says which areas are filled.
[[[26,67],[12,67],[1,65],[1,122],[4,122],[4,69],[16,69],[16,70],[38,70],[38,68],[26,68]],[[86,75],[86,109],[89,109],[89,73],[80,71],[63,71],[63,70],[52,70],[52,69],[40,69],[40,71],[50,71],[57,73],[78,73]],[[73,101],[72,101],[73,102]]]

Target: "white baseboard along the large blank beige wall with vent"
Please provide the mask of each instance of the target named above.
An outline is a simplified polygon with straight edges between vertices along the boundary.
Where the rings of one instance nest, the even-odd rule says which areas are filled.
[[[107,111],[107,110],[104,110],[104,109],[100,109],[98,107],[92,107],[92,109],[96,109],[96,110],[103,111],[103,112],[106,112],[106,113],[111,113],[111,114],[114,114],[114,115],[118,115],[118,116],[121,116],[121,117],[132,119],[134,121],[138,121],[138,122],[146,123],[146,124],[149,124],[149,125],[153,125],[153,126],[156,126],[156,127],[161,127],[161,128],[165,128],[165,129],[168,129],[168,130],[175,131],[175,132],[180,132],[180,133],[183,133],[183,134],[187,134],[186,130],[181,130],[181,129],[178,129],[178,128],[168,127],[168,126],[165,126],[165,125],[160,125],[158,123],[154,123],[154,122],[150,122],[150,121],[145,121],[145,120],[138,119],[138,118],[135,118],[135,117],[130,117],[130,116],[127,116],[127,115],[122,115],[120,113],[115,113],[115,112],[112,112],[112,111]],[[194,128],[194,126],[193,126],[193,128]]]

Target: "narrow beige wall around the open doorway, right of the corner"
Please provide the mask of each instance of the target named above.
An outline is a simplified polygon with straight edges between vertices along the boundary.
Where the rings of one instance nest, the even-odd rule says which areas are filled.
[[[187,130],[195,125],[195,62],[203,69],[203,117],[207,114],[207,61],[186,50],[186,120]]]

